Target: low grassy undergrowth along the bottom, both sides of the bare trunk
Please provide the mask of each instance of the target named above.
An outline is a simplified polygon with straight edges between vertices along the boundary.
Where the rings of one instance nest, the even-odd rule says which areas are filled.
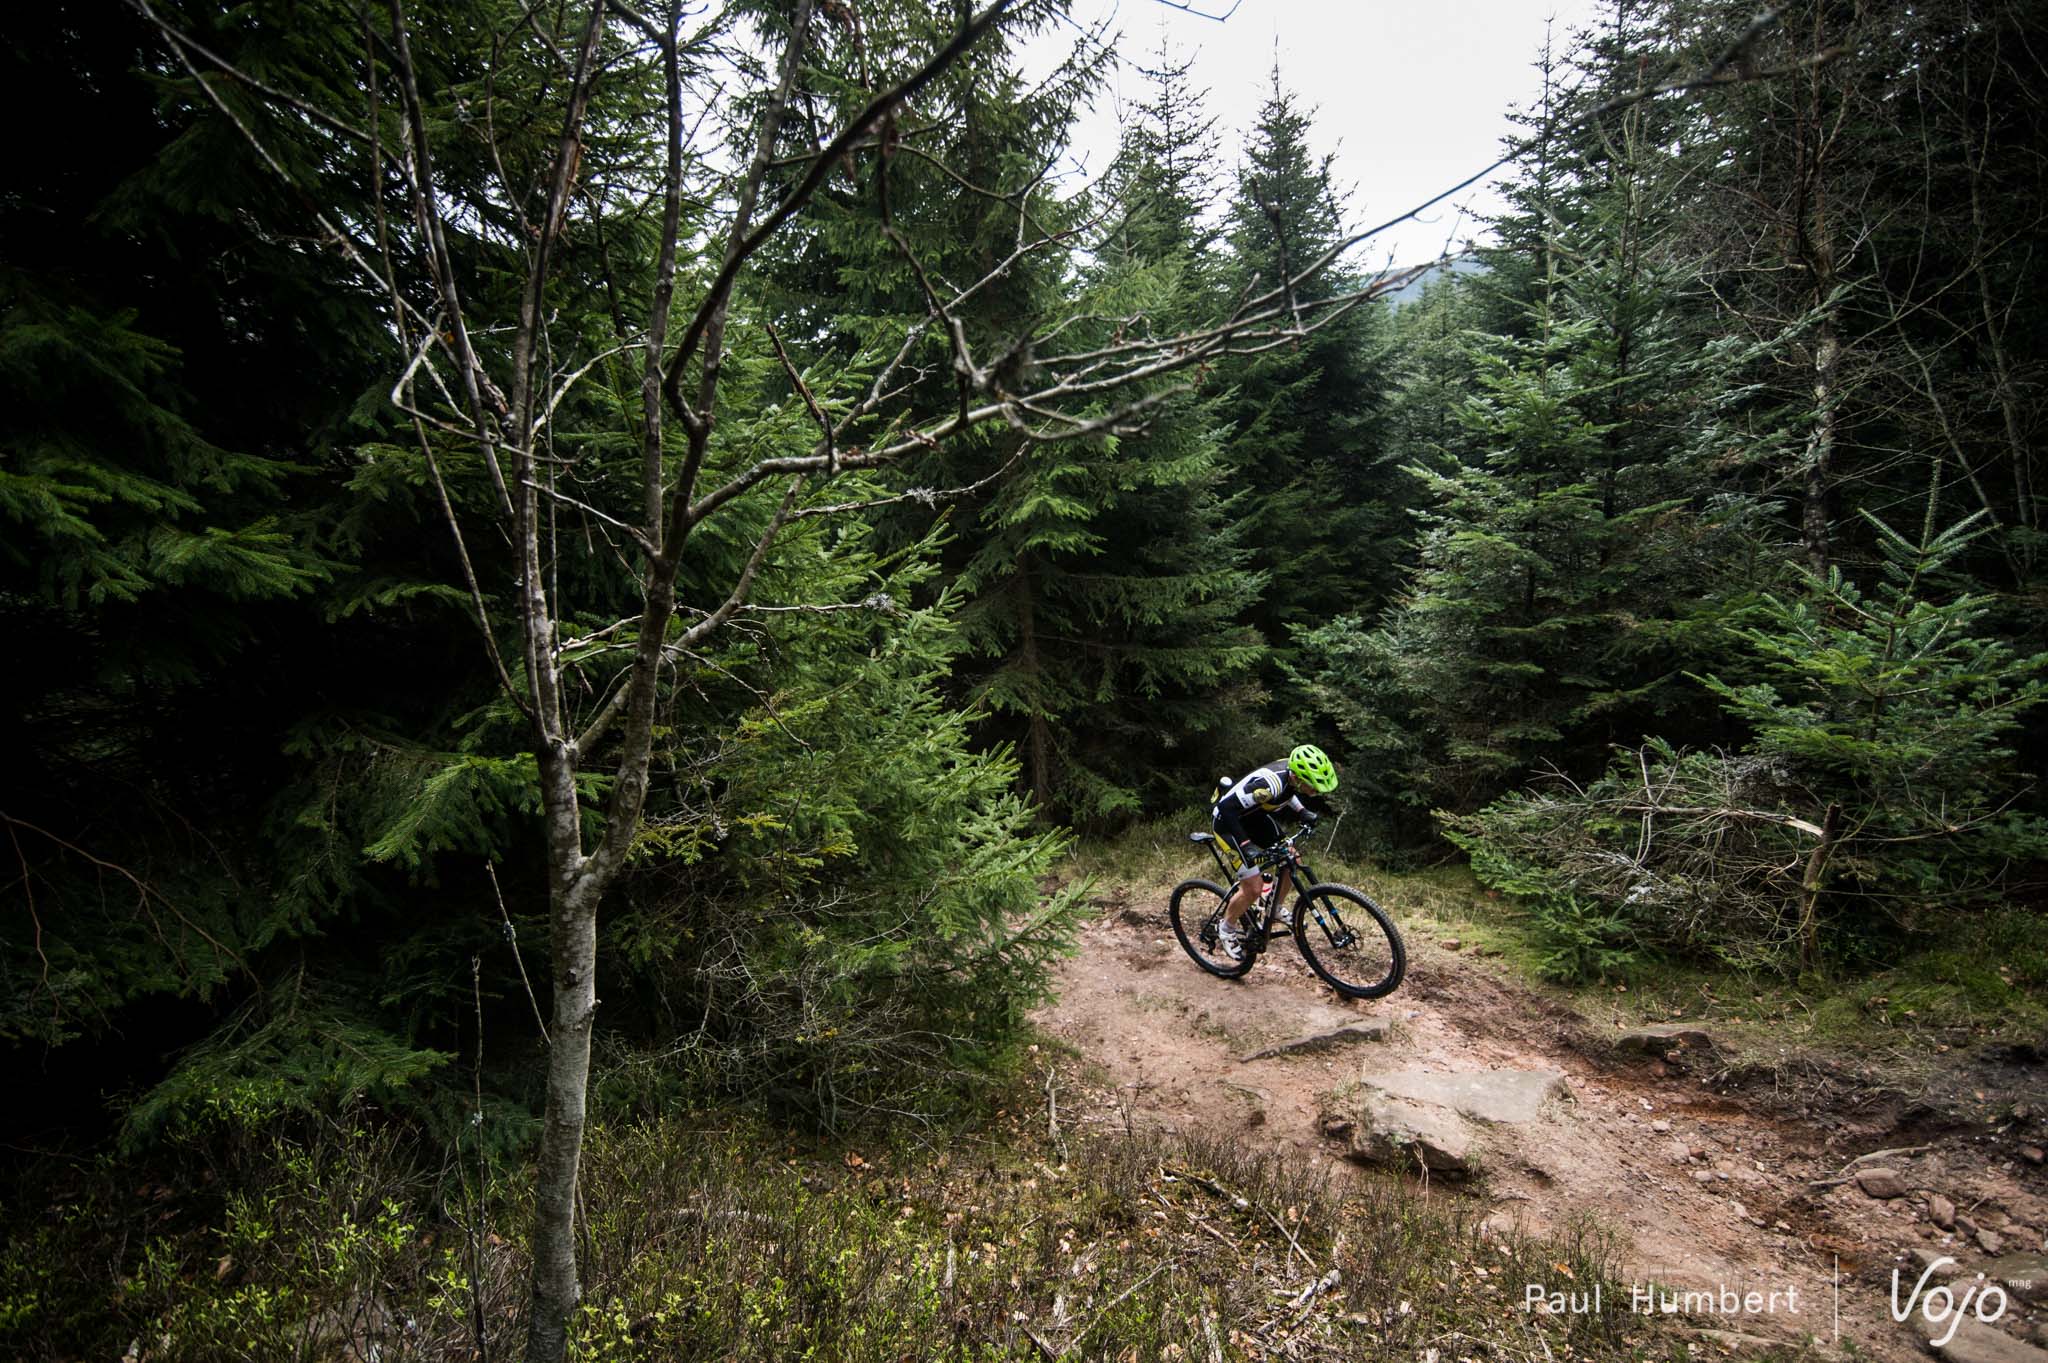
[[[225,1187],[131,1177],[72,1169],[45,1197],[8,1197],[0,1353],[516,1355],[518,1169],[479,1203],[397,1128],[348,1126],[281,1142]],[[1612,1275],[1597,1232],[1481,1234],[1401,1181],[1243,1140],[1055,1136],[1034,1109],[893,1146],[813,1146],[756,1119],[596,1126],[582,1207],[584,1361],[1335,1363],[1452,1334],[1507,1357],[1681,1357],[1626,1312],[1524,1312],[1530,1283]]]

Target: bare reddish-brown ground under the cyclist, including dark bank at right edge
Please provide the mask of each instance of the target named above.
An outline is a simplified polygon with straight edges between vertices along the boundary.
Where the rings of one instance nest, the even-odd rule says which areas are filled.
[[[1497,1234],[1583,1234],[1591,1224],[1612,1236],[1622,1283],[1712,1291],[1716,1308],[1696,1312],[1698,1322],[1745,1355],[1765,1340],[1812,1340],[1821,1353],[1921,1357],[1948,1332],[1925,1318],[1946,1302],[1898,1322],[1892,1273],[1905,1306],[1925,1265],[1946,1257],[1927,1291],[1960,1265],[1956,1298],[1999,1279],[2005,1293],[1993,1322],[2001,1338],[1972,1324],[1948,1343],[1950,1363],[2048,1363],[2038,1349],[2048,1345],[2040,1050],[1929,1044],[1872,1056],[1808,1046],[1794,1027],[1714,1017],[1712,1005],[1683,1017],[1665,1001],[1645,1017],[1626,991],[1534,984],[1454,925],[1405,917],[1384,884],[1374,890],[1409,941],[1395,995],[1339,999],[1290,939],[1276,939],[1247,978],[1219,980],[1180,950],[1165,917],[1169,884],[1098,878],[1102,913],[1063,964],[1057,1003],[1036,1017],[1065,1054],[1069,1119],[1237,1136],[1292,1150],[1333,1179],[1405,1179]],[[1376,1023],[1356,1025],[1366,1019]],[[1622,1034],[1645,1021],[1706,1038],[1620,1050]],[[1251,1058],[1339,1027],[1348,1031],[1323,1046]],[[1528,1119],[1452,1117],[1477,1140],[1470,1175],[1362,1162],[1360,1128],[1378,1097],[1368,1079],[1485,1085],[1516,1070],[1544,1076],[1554,1097]],[[1720,1314],[1731,1300],[1722,1287],[1763,1293],[1765,1310]],[[1997,1306],[1987,1295],[1972,1314]]]

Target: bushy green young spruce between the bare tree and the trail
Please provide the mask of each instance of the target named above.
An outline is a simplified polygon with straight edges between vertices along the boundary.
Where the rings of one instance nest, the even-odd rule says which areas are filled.
[[[944,1111],[1001,1068],[1085,886],[1042,890],[1065,835],[946,702],[954,649],[944,606],[872,649],[793,636],[791,684],[715,761],[672,755],[606,925],[635,991],[614,1109],[694,1095],[846,1128]]]

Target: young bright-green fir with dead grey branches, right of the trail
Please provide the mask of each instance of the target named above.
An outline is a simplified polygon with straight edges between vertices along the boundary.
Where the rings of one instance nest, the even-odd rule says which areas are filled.
[[[1855,966],[1952,929],[2048,853],[2013,753],[2048,655],[1982,632],[1985,598],[1944,591],[1972,522],[1919,544],[1872,526],[1876,585],[1835,569],[1800,598],[1761,596],[1739,636],[1767,679],[1702,679],[1749,727],[1743,751],[1651,739],[1583,786],[1554,776],[1442,815],[1481,880],[1556,939],[1556,974],[1638,952]]]

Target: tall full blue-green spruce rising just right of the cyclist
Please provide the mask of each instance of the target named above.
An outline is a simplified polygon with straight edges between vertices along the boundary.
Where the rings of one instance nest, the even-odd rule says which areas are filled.
[[[1663,115],[1624,102],[1583,117],[1638,78],[1642,35],[1624,20],[1626,6],[1579,51],[1585,80],[1569,92],[1544,51],[1524,123],[1569,133],[1518,170],[1487,272],[1409,323],[1397,430],[1421,538],[1407,591],[1372,645],[1348,639],[1358,626],[1315,636],[1325,696],[1346,690],[1341,659],[1372,657],[1350,690],[1376,688],[1411,724],[1352,727],[1393,749],[1411,794],[1452,810],[1538,763],[1597,765],[1608,743],[1640,739],[1692,692],[1681,671],[1712,636],[1702,612],[1733,585],[1724,522],[1739,503],[1704,495],[1692,432],[1710,366],[1661,256]],[[1452,332],[1460,311],[1481,325]]]

